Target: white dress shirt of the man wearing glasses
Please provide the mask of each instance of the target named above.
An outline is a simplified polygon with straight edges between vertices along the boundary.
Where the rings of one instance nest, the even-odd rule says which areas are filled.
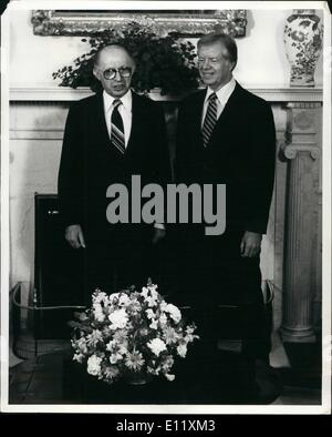
[[[118,106],[118,112],[123,121],[125,148],[126,148],[132,132],[132,108],[133,108],[132,91],[128,90],[128,92],[120,99],[113,98],[112,95],[107,94],[106,91],[104,91],[103,100],[104,100],[105,121],[106,121],[106,126],[110,138],[111,138],[111,118],[113,112],[113,102],[114,100],[120,100],[122,102],[122,104]]]

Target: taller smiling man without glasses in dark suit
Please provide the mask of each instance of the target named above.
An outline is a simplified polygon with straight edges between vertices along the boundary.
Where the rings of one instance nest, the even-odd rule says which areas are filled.
[[[232,38],[203,37],[198,69],[207,89],[185,99],[179,109],[177,182],[226,184],[225,233],[205,235],[204,226],[197,225],[181,233],[188,289],[184,301],[199,309],[195,317],[206,354],[215,353],[216,307],[224,304],[240,308],[243,356],[267,362],[270,339],[259,254],[273,189],[274,122],[270,105],[234,79],[236,63]]]

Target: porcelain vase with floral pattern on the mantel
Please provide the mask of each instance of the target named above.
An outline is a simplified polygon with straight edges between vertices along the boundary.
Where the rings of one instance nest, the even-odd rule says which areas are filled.
[[[314,87],[314,70],[322,51],[323,26],[314,9],[294,9],[283,32],[291,64],[290,87]]]

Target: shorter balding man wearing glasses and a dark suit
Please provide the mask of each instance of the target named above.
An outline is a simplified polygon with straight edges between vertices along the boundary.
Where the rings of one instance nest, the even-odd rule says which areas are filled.
[[[145,282],[148,250],[165,234],[162,224],[111,224],[106,197],[111,184],[124,184],[131,194],[132,175],[164,184],[169,160],[164,114],[159,105],[131,90],[135,61],[118,44],[95,57],[93,74],[103,91],[75,102],[68,115],[59,197],[65,238],[84,250],[85,303],[95,287],[106,292]],[[126,206],[125,206],[126,207]]]

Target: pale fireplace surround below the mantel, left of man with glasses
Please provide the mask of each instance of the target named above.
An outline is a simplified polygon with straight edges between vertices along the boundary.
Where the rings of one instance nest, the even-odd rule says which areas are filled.
[[[66,106],[12,103],[10,108],[10,285],[33,284],[34,193],[56,193]]]

